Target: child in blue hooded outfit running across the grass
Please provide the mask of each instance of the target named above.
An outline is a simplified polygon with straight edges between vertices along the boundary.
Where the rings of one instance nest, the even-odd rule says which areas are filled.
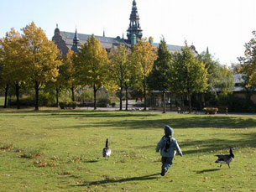
[[[175,156],[175,150],[177,150],[180,156],[182,157],[180,146],[177,143],[176,139],[173,138],[173,134],[174,134],[174,130],[170,126],[166,125],[165,136],[161,138],[161,140],[159,141],[159,143],[155,148],[156,152],[160,151],[162,156],[162,163],[163,163],[162,170],[161,170],[162,176],[164,176],[170,169],[173,158]]]

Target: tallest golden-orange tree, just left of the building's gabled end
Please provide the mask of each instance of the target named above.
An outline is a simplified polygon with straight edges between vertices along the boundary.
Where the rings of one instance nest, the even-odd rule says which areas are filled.
[[[58,76],[59,49],[54,42],[47,39],[43,29],[34,22],[23,29],[26,44],[26,62],[29,64],[29,80],[34,84],[35,110],[39,110],[39,90],[46,82],[55,81]]]

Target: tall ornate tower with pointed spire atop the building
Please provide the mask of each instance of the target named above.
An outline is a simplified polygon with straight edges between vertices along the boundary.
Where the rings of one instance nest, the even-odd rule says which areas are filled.
[[[139,20],[139,17],[138,17],[136,1],[133,0],[132,13],[130,14],[130,24],[129,24],[129,28],[127,30],[127,32],[128,32],[127,37],[128,37],[129,42],[131,42],[131,43],[132,43],[133,34],[136,35],[136,39],[142,38],[142,29],[140,28],[138,20]]]

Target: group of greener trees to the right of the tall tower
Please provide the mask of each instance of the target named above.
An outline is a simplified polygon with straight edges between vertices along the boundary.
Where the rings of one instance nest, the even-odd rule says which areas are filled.
[[[159,44],[158,59],[149,75],[151,90],[163,92],[165,112],[165,92],[185,96],[191,110],[191,96],[208,93],[217,96],[217,91],[227,91],[234,86],[232,70],[214,60],[208,49],[197,54],[186,42],[180,52],[170,53],[165,39]]]

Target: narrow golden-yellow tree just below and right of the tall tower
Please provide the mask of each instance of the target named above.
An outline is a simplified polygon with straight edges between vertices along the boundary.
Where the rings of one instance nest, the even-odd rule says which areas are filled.
[[[151,72],[154,60],[157,59],[156,47],[149,44],[147,39],[138,39],[137,44],[132,48],[132,59],[135,65],[136,72],[138,73],[138,84],[143,87],[144,91],[144,110],[146,111],[146,90],[147,90],[147,77]]]

